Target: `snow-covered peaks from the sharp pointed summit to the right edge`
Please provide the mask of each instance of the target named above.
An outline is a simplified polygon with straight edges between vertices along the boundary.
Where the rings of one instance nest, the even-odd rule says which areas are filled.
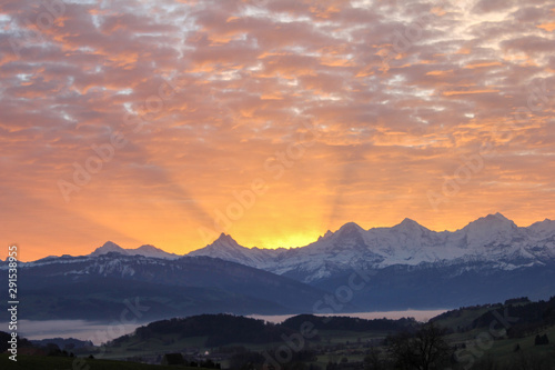
[[[411,219],[392,228],[370,230],[349,222],[301,248],[249,249],[222,234],[190,256],[221,258],[304,282],[353,268],[382,269],[394,264],[492,262],[500,269],[514,269],[555,260],[555,222],[545,220],[519,228],[495,213],[454,232],[432,231]]]

